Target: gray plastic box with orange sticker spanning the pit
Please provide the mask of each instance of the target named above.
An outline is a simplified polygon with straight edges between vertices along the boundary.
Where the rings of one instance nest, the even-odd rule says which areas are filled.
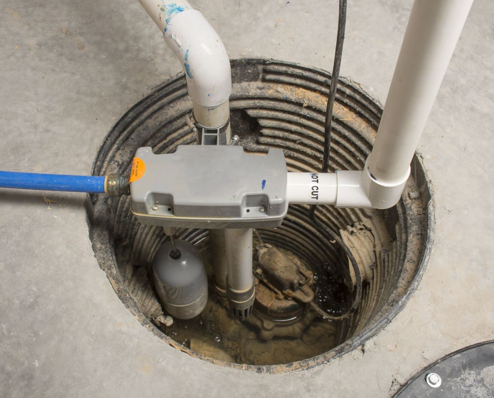
[[[279,226],[288,210],[283,151],[249,155],[240,146],[179,145],[173,154],[139,148],[132,212],[142,224],[184,228]]]

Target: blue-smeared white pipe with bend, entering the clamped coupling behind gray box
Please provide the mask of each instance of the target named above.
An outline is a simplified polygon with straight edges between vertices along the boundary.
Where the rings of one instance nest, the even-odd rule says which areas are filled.
[[[185,0],[139,0],[158,25],[185,71],[194,117],[206,128],[222,127],[230,117],[230,59],[215,30]],[[227,141],[231,136],[227,129]]]

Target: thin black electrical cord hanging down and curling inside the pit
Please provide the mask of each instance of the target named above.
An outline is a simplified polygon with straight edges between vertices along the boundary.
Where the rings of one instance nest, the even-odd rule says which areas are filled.
[[[346,23],[346,0],[339,0],[339,12],[338,12],[338,34],[336,38],[336,48],[334,50],[334,62],[333,62],[333,72],[331,74],[331,84],[329,85],[329,95],[328,104],[326,106],[326,119],[324,123],[324,155],[323,155],[323,167],[322,172],[327,173],[329,169],[329,151],[331,149],[331,121],[333,115],[334,98],[336,96],[336,88],[338,87],[339,70],[341,66],[341,55],[343,53],[343,40],[345,39],[345,23]],[[311,302],[312,308],[322,317],[330,320],[343,320],[349,318],[355,310],[358,308],[360,301],[362,299],[362,276],[360,275],[360,269],[355,260],[354,255],[348,246],[341,240],[341,238],[324,225],[321,221],[316,218],[315,215],[316,205],[313,204],[309,209],[309,218],[311,221],[323,232],[325,232],[330,239],[335,243],[339,244],[343,249],[345,254],[350,259],[352,263],[353,271],[355,272],[355,279],[357,281],[357,289],[355,293],[355,299],[350,307],[350,309],[343,315],[339,317],[333,317],[323,311],[316,303]]]

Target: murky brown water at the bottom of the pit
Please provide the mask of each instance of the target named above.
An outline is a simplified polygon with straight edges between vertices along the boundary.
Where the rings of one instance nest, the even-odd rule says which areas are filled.
[[[317,356],[338,345],[337,322],[320,317],[313,317],[300,337],[275,336],[270,340],[261,339],[257,327],[247,320],[240,321],[231,316],[230,310],[224,304],[225,300],[211,288],[212,267],[207,253],[203,255],[203,259],[209,279],[206,308],[195,318],[174,318],[170,326],[158,325],[177,343],[211,358],[249,365],[290,363]],[[315,279],[326,278],[321,278],[315,273]],[[334,288],[330,289],[333,297],[341,297],[341,290],[346,290],[341,283],[337,285],[339,292],[334,291]],[[328,305],[325,305],[331,292],[327,290],[327,286],[323,291],[317,280],[315,286],[318,292],[316,302],[331,313]],[[255,306],[253,311],[256,311]]]

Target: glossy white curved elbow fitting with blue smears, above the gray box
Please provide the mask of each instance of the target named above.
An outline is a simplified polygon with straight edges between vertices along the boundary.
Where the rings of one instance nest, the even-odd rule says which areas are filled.
[[[230,97],[230,59],[216,31],[197,10],[174,15],[164,29],[166,44],[181,62],[192,101],[217,107]]]

